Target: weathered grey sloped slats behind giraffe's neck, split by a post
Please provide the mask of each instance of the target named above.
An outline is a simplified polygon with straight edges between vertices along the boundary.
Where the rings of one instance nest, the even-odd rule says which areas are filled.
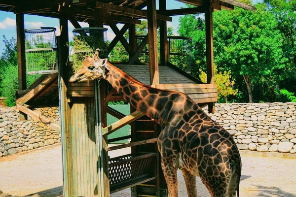
[[[140,82],[149,85],[150,74],[147,65],[115,65],[119,69],[135,77]],[[159,83],[160,84],[176,84],[176,83],[195,83],[191,79],[169,66],[159,66]]]

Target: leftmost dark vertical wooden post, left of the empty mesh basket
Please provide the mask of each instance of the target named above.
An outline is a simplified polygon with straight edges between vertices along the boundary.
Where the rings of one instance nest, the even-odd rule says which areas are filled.
[[[24,14],[16,15],[16,36],[17,36],[17,65],[19,90],[27,89],[26,58],[25,58],[25,32]]]

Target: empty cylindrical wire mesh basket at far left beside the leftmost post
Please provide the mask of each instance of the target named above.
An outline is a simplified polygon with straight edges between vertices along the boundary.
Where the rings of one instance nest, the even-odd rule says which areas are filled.
[[[50,27],[25,30],[27,74],[57,72],[56,29]]]

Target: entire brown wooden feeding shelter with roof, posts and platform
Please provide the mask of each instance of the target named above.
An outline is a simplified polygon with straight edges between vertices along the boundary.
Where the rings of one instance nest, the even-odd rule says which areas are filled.
[[[116,37],[109,44],[111,51],[121,42],[130,59],[128,65],[117,65],[139,81],[156,88],[176,90],[188,94],[199,105],[209,105],[214,111],[217,88],[213,69],[213,11],[234,9],[234,6],[255,11],[256,8],[236,0],[178,0],[193,8],[166,9],[166,0],[1,0],[0,10],[14,12],[17,23],[17,50],[19,91],[17,108],[21,118],[26,115],[62,132],[64,196],[109,197],[121,189],[132,188],[133,196],[166,197],[166,183],[159,166],[156,147],[159,125],[131,109],[131,114],[108,107],[108,101],[121,100],[107,82],[68,83],[73,74],[68,62],[68,20],[75,28],[79,21],[90,27],[110,26]],[[143,9],[147,6],[147,10]],[[170,16],[205,13],[208,83],[204,84],[168,61],[167,21]],[[42,75],[33,85],[26,84],[24,14],[58,18],[59,73]],[[148,34],[138,46],[135,25],[139,19],[148,20]],[[117,23],[124,26],[119,30]],[[160,30],[160,63],[158,63],[157,29]],[[129,30],[129,42],[123,34]],[[138,57],[148,44],[149,66],[141,64]],[[173,76],[173,77],[172,77]],[[35,108],[59,105],[61,126],[41,115]],[[107,125],[107,113],[119,118]],[[131,135],[115,140],[131,138],[128,144],[108,148],[107,135],[124,125],[131,125]],[[108,152],[132,147],[132,154],[109,158]]]

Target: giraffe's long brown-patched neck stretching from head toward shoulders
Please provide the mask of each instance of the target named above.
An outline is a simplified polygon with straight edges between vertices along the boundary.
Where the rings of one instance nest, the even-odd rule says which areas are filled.
[[[109,63],[106,68],[106,80],[133,107],[160,125],[167,121],[161,112],[172,92],[151,88]]]

